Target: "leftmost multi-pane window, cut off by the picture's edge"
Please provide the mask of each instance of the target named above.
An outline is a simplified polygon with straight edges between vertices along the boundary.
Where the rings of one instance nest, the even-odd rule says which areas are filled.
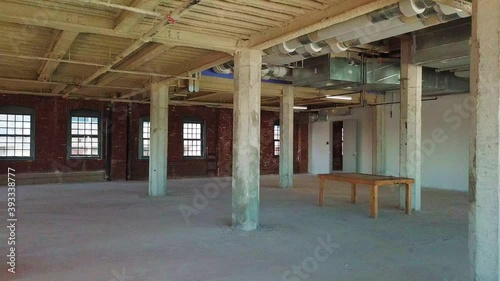
[[[0,107],[0,159],[33,159],[33,109]]]

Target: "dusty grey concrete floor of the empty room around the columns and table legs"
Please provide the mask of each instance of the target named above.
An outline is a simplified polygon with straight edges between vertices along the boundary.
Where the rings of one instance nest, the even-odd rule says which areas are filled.
[[[169,184],[165,198],[147,197],[146,182],[19,187],[17,273],[5,271],[1,227],[0,280],[467,280],[465,193],[424,190],[424,210],[406,216],[396,208],[398,193],[383,188],[373,220],[367,188],[351,205],[346,185],[328,183],[321,208],[314,176],[296,176],[293,190],[265,176],[261,228],[245,233],[229,226],[230,179]],[[193,205],[207,184],[220,194],[208,189],[213,198]],[[0,198],[5,223],[5,188]],[[200,210],[187,224],[180,206]],[[321,239],[335,246],[315,258]]]

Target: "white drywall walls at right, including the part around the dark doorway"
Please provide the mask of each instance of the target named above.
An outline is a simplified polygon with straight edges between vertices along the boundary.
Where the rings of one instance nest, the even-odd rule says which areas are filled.
[[[387,94],[386,102],[391,101],[399,101],[399,94]],[[469,95],[451,95],[422,103],[423,187],[468,190],[470,139],[468,101]],[[386,174],[397,176],[399,175],[399,104],[384,107]],[[310,124],[309,172],[312,174],[331,172],[331,123],[356,119],[358,120],[358,172],[371,173],[372,118],[371,107],[356,108],[352,110],[351,116],[331,117],[328,122]]]

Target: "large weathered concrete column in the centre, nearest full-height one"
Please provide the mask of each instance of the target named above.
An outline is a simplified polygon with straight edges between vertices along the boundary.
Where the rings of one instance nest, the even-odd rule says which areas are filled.
[[[234,57],[232,225],[259,225],[260,97],[262,54],[241,49]]]

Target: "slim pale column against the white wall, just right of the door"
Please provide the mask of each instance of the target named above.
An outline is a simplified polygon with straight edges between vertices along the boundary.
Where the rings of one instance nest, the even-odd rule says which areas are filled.
[[[385,102],[385,96],[377,96],[377,103]],[[373,108],[373,144],[372,172],[375,175],[385,174],[385,105]]]

